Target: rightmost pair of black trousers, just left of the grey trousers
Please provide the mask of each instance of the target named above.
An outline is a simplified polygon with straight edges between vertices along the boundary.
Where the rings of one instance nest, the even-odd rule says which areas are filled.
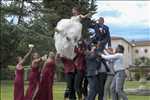
[[[99,73],[98,76],[98,100],[103,100],[104,97],[104,87],[107,79],[106,73]]]

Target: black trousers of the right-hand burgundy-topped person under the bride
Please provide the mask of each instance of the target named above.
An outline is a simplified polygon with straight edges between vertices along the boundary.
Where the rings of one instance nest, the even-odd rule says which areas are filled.
[[[75,91],[78,94],[78,98],[82,97],[82,82],[83,82],[84,72],[80,70],[76,70],[75,73]]]

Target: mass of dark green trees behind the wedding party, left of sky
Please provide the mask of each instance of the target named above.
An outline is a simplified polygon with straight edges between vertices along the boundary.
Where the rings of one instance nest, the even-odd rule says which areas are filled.
[[[7,1],[5,1],[7,2]],[[27,52],[28,44],[35,44],[41,54],[54,48],[54,28],[61,18],[69,18],[74,6],[82,14],[95,11],[95,0],[13,0],[1,4],[1,61],[2,67],[15,62],[17,55]],[[8,21],[8,18],[11,21]],[[86,21],[83,21],[86,37]]]

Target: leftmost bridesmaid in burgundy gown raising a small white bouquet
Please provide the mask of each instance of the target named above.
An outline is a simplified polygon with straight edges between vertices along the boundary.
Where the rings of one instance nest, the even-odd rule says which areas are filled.
[[[23,63],[26,60],[26,58],[31,53],[32,48],[30,48],[30,51],[22,57],[17,57],[17,66],[16,66],[16,72],[15,72],[15,79],[14,79],[14,100],[24,100],[24,67]]]

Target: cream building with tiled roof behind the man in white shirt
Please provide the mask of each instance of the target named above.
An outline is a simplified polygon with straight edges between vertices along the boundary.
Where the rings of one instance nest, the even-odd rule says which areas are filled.
[[[121,44],[125,48],[124,52],[124,66],[129,67],[133,65],[136,58],[148,57],[150,58],[150,40],[149,41],[127,41],[122,37],[112,37],[112,47]]]

